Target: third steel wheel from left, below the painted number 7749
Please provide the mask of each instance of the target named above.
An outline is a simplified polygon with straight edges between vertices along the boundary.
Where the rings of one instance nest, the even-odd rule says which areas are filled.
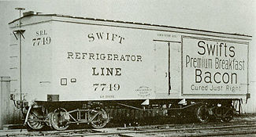
[[[103,109],[93,110],[92,114],[94,114],[91,121],[91,126],[93,128],[104,128],[109,122],[109,115]]]

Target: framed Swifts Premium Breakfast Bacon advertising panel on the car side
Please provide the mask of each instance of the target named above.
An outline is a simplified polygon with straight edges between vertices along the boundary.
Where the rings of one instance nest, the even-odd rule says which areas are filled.
[[[245,96],[248,43],[182,37],[183,96]]]

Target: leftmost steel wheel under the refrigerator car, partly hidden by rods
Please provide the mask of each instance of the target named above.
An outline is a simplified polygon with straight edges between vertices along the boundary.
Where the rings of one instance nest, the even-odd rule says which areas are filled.
[[[40,110],[32,109],[28,114],[28,122],[27,122],[28,127],[35,130],[39,130],[43,128],[44,122],[40,121],[39,117],[43,117],[43,114],[40,113]]]

